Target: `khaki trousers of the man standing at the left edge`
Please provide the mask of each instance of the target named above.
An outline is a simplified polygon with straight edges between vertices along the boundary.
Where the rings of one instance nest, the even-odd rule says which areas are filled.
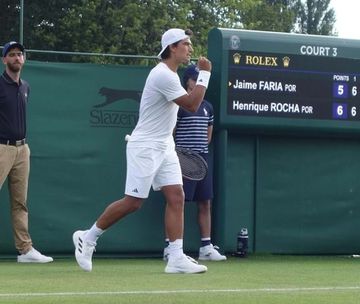
[[[0,144],[0,190],[8,178],[15,247],[20,253],[26,253],[32,247],[26,206],[29,173],[29,146]]]

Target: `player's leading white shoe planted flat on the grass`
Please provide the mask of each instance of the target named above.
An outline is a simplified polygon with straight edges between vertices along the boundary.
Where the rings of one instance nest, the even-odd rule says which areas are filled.
[[[168,263],[165,267],[166,273],[203,273],[207,271],[205,265],[198,264],[194,259],[182,254],[180,257],[169,256]]]

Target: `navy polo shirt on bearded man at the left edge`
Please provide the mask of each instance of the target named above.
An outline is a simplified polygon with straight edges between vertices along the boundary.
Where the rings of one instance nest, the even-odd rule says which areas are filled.
[[[14,82],[4,72],[0,76],[0,139],[20,140],[26,137],[26,104],[29,84]]]

